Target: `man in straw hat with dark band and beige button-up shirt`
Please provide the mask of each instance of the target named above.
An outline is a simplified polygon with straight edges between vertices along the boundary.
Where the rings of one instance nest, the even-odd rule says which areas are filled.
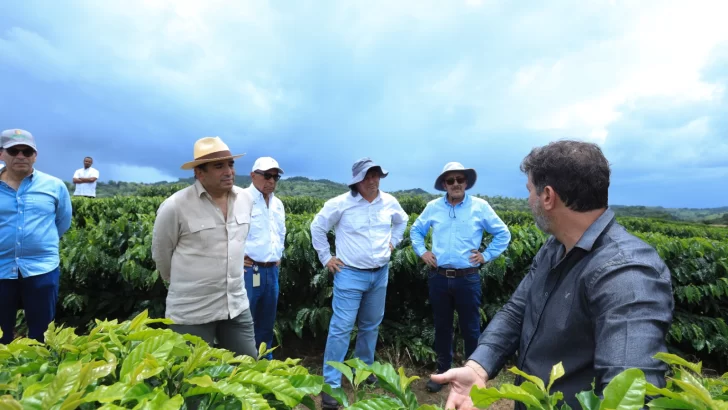
[[[179,333],[257,358],[253,318],[243,283],[243,250],[253,199],[236,187],[235,158],[219,137],[194,146],[195,183],[157,211],[152,258],[169,281],[166,317]]]

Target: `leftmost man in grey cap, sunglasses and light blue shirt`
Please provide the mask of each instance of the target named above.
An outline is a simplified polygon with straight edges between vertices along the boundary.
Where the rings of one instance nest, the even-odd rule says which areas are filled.
[[[35,137],[25,130],[0,134],[0,343],[15,333],[25,310],[28,336],[40,342],[55,319],[60,238],[71,226],[71,198],[60,179],[34,168]]]

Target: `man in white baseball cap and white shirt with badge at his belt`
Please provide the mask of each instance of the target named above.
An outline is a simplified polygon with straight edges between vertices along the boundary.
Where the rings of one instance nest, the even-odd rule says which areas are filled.
[[[253,198],[250,232],[245,244],[245,288],[255,323],[255,344],[273,344],[273,325],[278,306],[278,272],[286,239],[286,213],[274,192],[283,169],[271,157],[261,157],[250,172],[245,190]],[[271,353],[266,356],[273,358]]]

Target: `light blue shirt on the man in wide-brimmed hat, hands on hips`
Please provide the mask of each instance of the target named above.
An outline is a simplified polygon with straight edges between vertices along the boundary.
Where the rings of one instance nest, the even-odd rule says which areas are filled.
[[[488,202],[468,194],[455,206],[450,205],[447,196],[427,204],[410,229],[412,248],[417,256],[427,252],[425,235],[430,227],[432,253],[441,268],[464,269],[478,266],[470,263],[470,251],[480,248],[483,231],[493,235],[490,245],[483,251],[486,262],[503,253],[511,240],[508,227]]]

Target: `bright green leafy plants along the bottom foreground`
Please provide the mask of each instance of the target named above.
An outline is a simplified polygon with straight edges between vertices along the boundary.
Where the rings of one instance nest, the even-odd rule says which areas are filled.
[[[411,389],[417,376],[407,376],[391,364],[366,365],[358,359],[329,362],[341,370],[353,394],[332,389],[322,376],[312,375],[299,359],[258,361],[210,347],[202,339],[164,328],[166,319],[150,319],[147,311],[132,320],[95,321],[83,335],[75,329],[50,326],[45,343],[26,338],[0,345],[0,409],[292,409],[316,408],[314,397],[327,392],[347,409],[439,410],[420,405]],[[639,369],[618,374],[597,396],[594,387],[576,395],[585,410],[728,409],[728,373],[704,377],[702,363],[660,353],[671,365],[666,386],[647,382]],[[565,375],[554,365],[548,380],[512,367],[524,378],[518,386],[474,387],[470,396],[478,408],[501,399],[519,401],[530,409],[570,409],[564,394],[552,391]],[[364,385],[370,374],[381,393]]]

